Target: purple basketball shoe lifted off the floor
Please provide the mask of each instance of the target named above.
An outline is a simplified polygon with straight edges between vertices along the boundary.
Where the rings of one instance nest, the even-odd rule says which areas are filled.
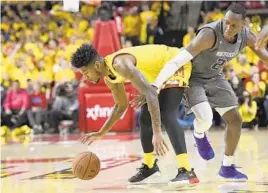
[[[198,153],[204,160],[210,160],[215,157],[214,150],[212,149],[205,133],[203,138],[197,138],[194,136],[194,139]]]

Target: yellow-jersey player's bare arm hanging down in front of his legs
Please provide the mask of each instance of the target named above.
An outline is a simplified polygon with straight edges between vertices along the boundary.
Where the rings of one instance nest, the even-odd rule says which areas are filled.
[[[143,74],[135,67],[133,61],[128,57],[119,56],[116,58],[114,69],[122,77],[130,80],[132,85],[145,96],[152,120],[153,145],[158,155],[164,155],[168,147],[161,131],[160,107],[156,89],[149,84]]]

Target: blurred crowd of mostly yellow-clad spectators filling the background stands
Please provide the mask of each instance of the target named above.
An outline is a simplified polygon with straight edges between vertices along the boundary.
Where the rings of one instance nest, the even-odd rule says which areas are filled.
[[[79,85],[69,61],[82,43],[92,42],[95,21],[114,19],[122,47],[154,43],[159,15],[169,15],[171,7],[172,2],[159,1],[88,1],[81,2],[78,13],[71,13],[63,11],[62,2],[2,3],[1,135],[8,129],[14,135],[29,133],[31,128],[34,133],[58,133],[63,120],[71,120],[70,130],[75,132]],[[223,18],[221,8],[219,3],[203,2],[198,27]],[[259,32],[259,16],[246,21]],[[188,27],[183,46],[198,27]],[[268,122],[267,71],[248,48],[224,69],[247,127]]]

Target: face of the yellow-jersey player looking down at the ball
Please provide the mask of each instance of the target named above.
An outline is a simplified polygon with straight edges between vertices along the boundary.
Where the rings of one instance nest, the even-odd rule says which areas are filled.
[[[80,68],[82,74],[87,78],[87,80],[97,84],[101,78],[101,71],[99,67],[100,63],[97,61],[94,65],[89,65],[87,67]]]

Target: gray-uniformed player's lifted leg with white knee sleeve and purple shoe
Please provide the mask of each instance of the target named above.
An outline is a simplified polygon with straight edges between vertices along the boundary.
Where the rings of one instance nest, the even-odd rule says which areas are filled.
[[[206,131],[212,125],[213,113],[208,103],[205,89],[201,86],[193,86],[186,92],[187,105],[195,114],[194,119],[194,139],[197,145],[199,155],[210,160],[214,158],[215,153],[207,139]]]

